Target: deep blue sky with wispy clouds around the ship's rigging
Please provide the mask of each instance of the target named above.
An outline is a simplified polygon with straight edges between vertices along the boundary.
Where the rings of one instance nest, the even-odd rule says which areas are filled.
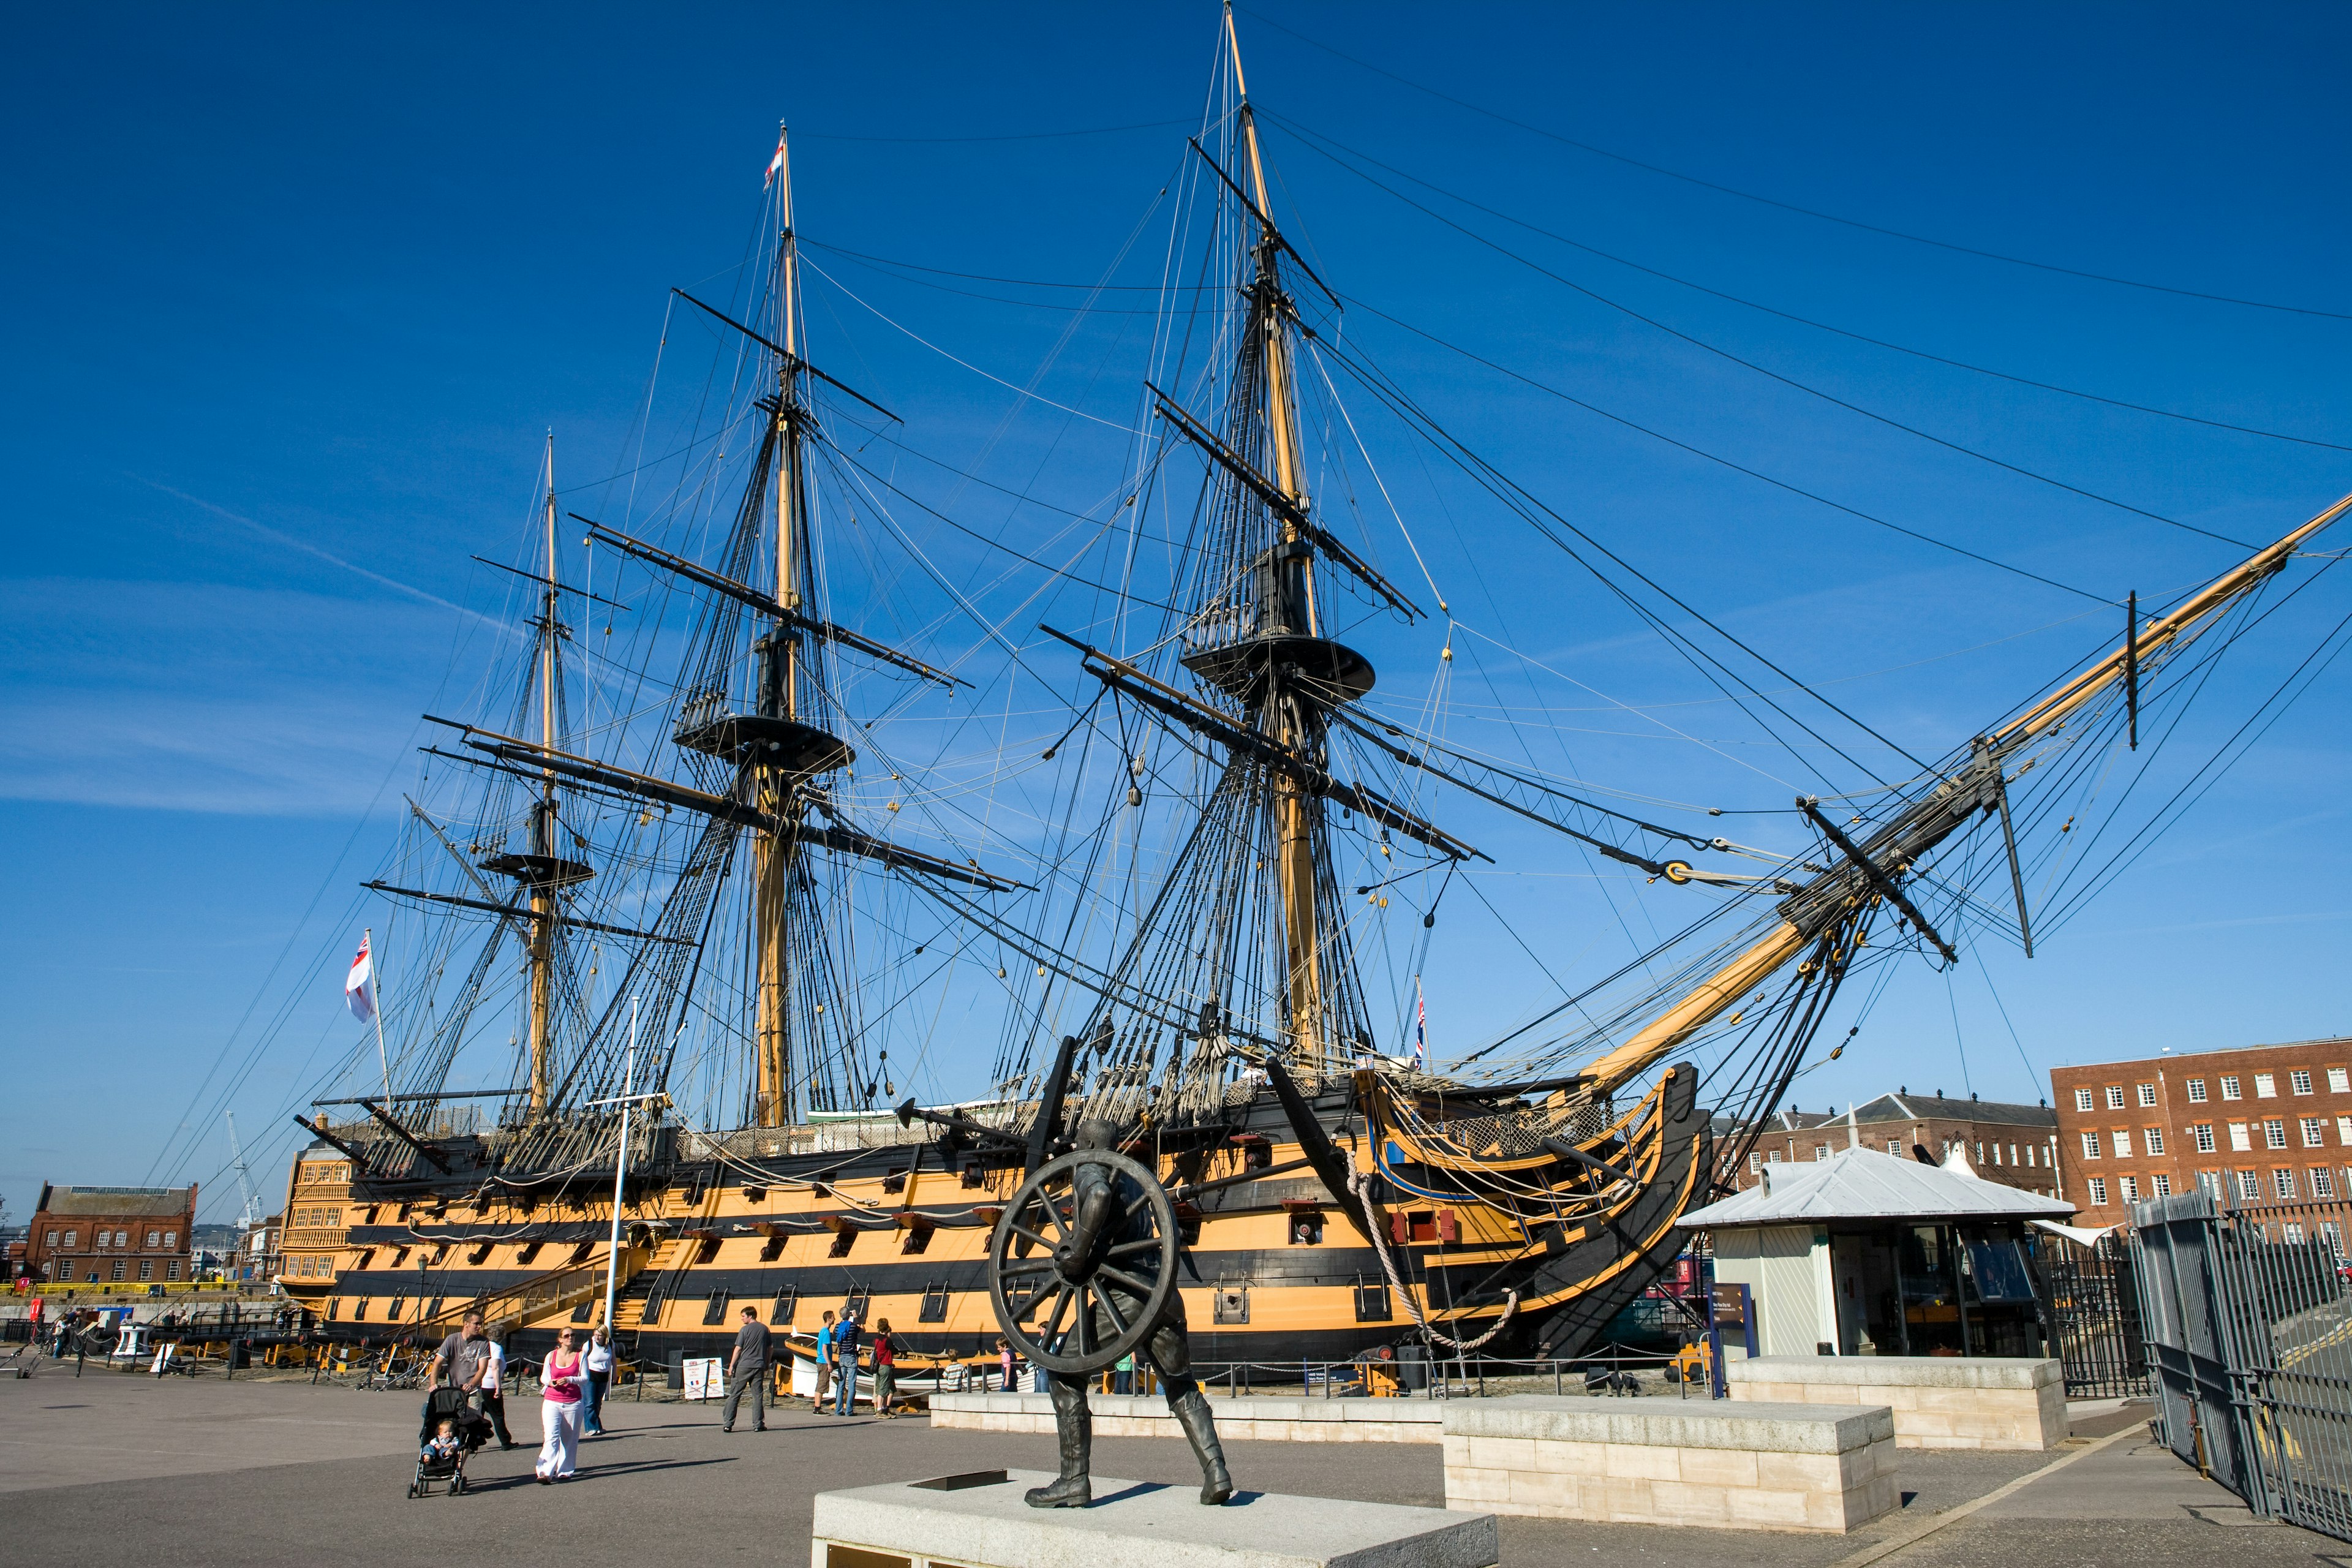
[[[1430,16],[1242,14],[1294,235],[1376,310],[2096,595],[2169,592],[2232,559],[1670,339],[1399,205],[1310,139],[1853,334],[2352,447],[2347,165],[2331,108],[2352,42],[2340,9]],[[626,468],[666,289],[741,263],[779,115],[795,127],[802,228],[837,247],[814,252],[818,360],[882,390],[927,451],[1018,465],[1051,449],[1049,433],[1021,423],[988,447],[1011,395],[906,331],[1023,383],[1065,317],[915,287],[840,252],[1134,277],[1112,259],[1188,155],[1216,42],[1204,5],[706,7],[659,21],[597,7],[242,7],[200,21],[132,7],[103,24],[45,12],[16,35],[0,106],[14,148],[0,205],[12,1218],[40,1180],[146,1178],[219,1074],[242,1074],[230,1103],[273,1161],[259,1171],[273,1199],[287,1128],[270,1117],[315,1053],[348,1046],[332,976],[365,919],[353,884],[379,865],[414,773],[416,712],[482,672],[487,632],[456,607],[496,609],[501,590],[468,555],[524,550],[550,425],[560,477]],[[1639,162],[2049,266],[1670,179],[1298,35]],[[2270,538],[2352,489],[2347,451],[1889,353],[1383,179],[1780,376],[2199,529]],[[1131,386],[1098,386],[1122,364],[1112,329],[1065,348],[1044,390],[1131,409]],[[1867,675],[1844,679],[1839,701],[1905,741],[1964,738],[2107,635],[2105,621],[2070,621],[2082,597],[1698,461],[1364,313],[1350,334],[1498,465],[1710,616],[1809,679]],[[1618,691],[1665,691],[1651,654],[1557,557],[1515,564],[1531,559],[1524,534],[1432,515],[1428,536],[1468,628],[1458,646],[1484,637]],[[1388,559],[1404,559],[1395,541]],[[2218,703],[2267,691],[2347,609],[2333,581],[2307,599]],[[1397,649],[1383,672],[1418,658]],[[2345,1032],[2347,693],[2352,670],[2328,672],[2032,964],[1987,952],[1950,990],[1905,976],[1872,1023],[1877,1048],[1804,1079],[1799,1103],[1896,1081],[2034,1098],[2063,1060]],[[1635,741],[1590,745],[1661,792],[1672,778]],[[1515,896],[1538,898],[1529,886]],[[318,961],[325,983],[299,987]],[[1432,983],[1432,1016],[1482,1016],[1482,980],[1465,954]],[[280,1011],[278,1046],[247,1060],[242,1041]],[[219,1128],[188,1128],[155,1175],[205,1180],[209,1218],[233,1208],[223,1159]]]

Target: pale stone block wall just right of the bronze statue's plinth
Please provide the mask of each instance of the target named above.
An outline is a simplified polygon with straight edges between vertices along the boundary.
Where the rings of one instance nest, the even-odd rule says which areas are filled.
[[[1842,1535],[1898,1502],[1884,1406],[1458,1399],[1444,1450],[1454,1509]]]

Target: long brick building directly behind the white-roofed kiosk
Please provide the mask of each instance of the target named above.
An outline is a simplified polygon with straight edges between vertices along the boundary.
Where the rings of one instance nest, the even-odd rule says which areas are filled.
[[[1733,1138],[1738,1126],[1731,1121],[1715,1126],[1717,1147],[1729,1147]],[[1731,1171],[1731,1190],[1755,1187],[1769,1164],[1828,1159],[1856,1145],[1905,1159],[1912,1150],[1926,1150],[1936,1161],[1943,1161],[1952,1145],[1964,1145],[1969,1164],[1985,1180],[2042,1197],[2070,1197],[2058,1180],[2058,1112],[2049,1105],[2009,1105],[1976,1095],[1947,1100],[1940,1093],[1915,1095],[1910,1088],[1879,1095],[1851,1112],[1797,1107],[1773,1112],[1748,1159]]]

